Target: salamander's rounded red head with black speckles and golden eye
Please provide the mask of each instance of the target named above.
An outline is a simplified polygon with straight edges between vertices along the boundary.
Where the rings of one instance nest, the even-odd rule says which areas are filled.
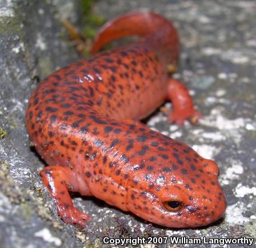
[[[129,210],[163,226],[205,226],[226,210],[219,169],[213,160],[181,144],[183,152],[173,153],[170,160],[158,156],[151,173],[147,171],[150,165],[143,172],[137,170],[134,180],[138,183],[128,193]]]

